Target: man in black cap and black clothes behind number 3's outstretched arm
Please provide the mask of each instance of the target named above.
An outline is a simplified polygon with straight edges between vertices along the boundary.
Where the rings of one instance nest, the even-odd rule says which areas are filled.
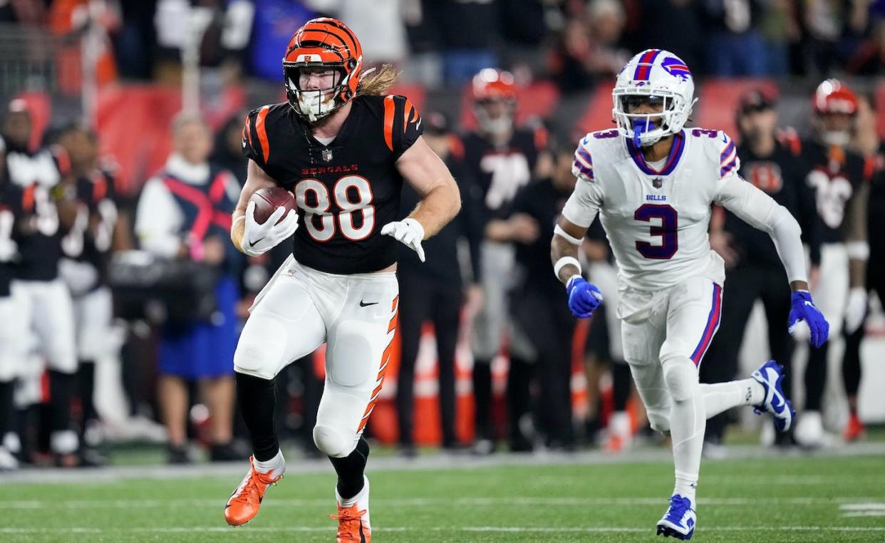
[[[796,153],[777,137],[775,105],[773,93],[766,89],[755,88],[741,96],[736,123],[741,134],[737,147],[741,160],[739,174],[797,218],[811,248],[812,264],[817,266],[820,241],[813,193],[805,186],[805,171]],[[722,297],[720,332],[724,333],[716,334],[712,340],[706,355],[708,363],[701,365],[701,380],[712,384],[735,378],[744,329],[753,304],[759,299],[766,310],[771,357],[788,368],[784,371],[783,386],[789,390],[793,355],[793,340],[787,329],[789,287],[777,250],[766,233],[728,210],[717,209],[710,225],[710,243],[725,260],[726,283],[730,287]],[[721,451],[727,421],[725,413],[707,421],[704,454],[715,457]],[[776,439],[789,444],[792,434],[778,433]]]

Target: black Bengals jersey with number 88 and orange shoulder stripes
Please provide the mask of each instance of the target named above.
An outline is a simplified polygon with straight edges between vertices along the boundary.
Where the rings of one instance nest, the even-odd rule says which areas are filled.
[[[403,178],[396,160],[422,132],[404,96],[358,96],[335,140],[323,145],[289,103],[250,111],[243,154],[295,195],[300,264],[329,273],[367,273],[396,262],[396,240],[381,227],[396,220]]]

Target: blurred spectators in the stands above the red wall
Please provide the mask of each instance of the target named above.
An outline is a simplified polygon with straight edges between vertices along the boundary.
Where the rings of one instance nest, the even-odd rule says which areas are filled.
[[[291,29],[329,15],[350,21],[367,65],[394,64],[412,82],[457,86],[501,66],[520,83],[550,79],[564,92],[592,88],[617,74],[630,51],[650,48],[678,51],[702,76],[881,74],[883,14],[881,0],[0,2],[0,24],[65,37],[98,30],[100,84],[178,81],[181,50],[194,36],[206,77],[276,80]]]

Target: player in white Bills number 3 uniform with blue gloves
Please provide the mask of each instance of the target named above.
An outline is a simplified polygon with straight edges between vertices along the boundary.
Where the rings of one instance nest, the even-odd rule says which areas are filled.
[[[804,320],[811,341],[827,340],[827,321],[806,282],[801,229],[789,211],[737,175],[735,144],[718,130],[683,129],[694,99],[688,66],[665,50],[633,57],[618,76],[618,128],[587,134],[575,151],[574,192],[551,242],[553,270],[566,284],[575,317],[602,302],[581,278],[576,256],[598,214],[619,268],[617,314],[624,356],[659,432],[670,432],[676,485],[658,534],[690,539],[707,417],[751,405],[789,429],[794,411],[770,361],[750,379],[701,385],[697,366],[720,321],[722,258],[710,248],[711,204],[772,236],[792,288],[792,330]]]

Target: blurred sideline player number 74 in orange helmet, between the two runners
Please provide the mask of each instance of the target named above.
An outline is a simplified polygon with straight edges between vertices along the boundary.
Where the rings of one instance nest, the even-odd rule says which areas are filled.
[[[546,146],[543,127],[516,126],[517,88],[509,72],[485,69],[473,77],[473,112],[477,128],[464,137],[465,166],[473,181],[472,191],[479,193],[484,205],[485,241],[481,250],[482,307],[473,320],[473,399],[476,406],[476,441],[474,452],[489,454],[494,450],[491,428],[491,362],[500,352],[504,335],[509,335],[511,381],[508,388],[524,390],[523,377],[530,375],[528,360],[534,348],[524,333],[509,325],[506,293],[512,287],[514,266],[513,242],[531,243],[539,233],[535,219],[519,214],[505,220],[519,187],[535,177],[538,156]],[[509,330],[510,329],[510,330]],[[509,334],[508,331],[510,332]],[[513,379],[517,379],[513,381]],[[531,443],[519,430],[519,418],[526,415],[519,406],[509,409],[510,447],[515,451],[531,449]]]

